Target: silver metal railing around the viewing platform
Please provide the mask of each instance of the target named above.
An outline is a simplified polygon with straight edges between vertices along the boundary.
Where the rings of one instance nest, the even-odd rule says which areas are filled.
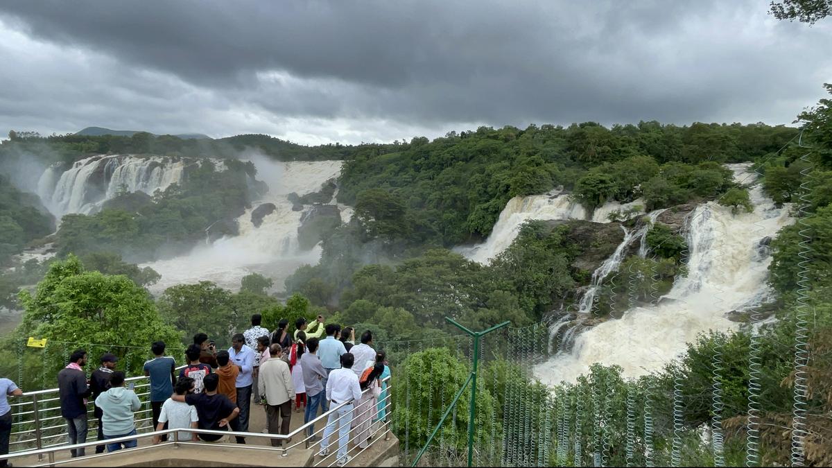
[[[141,377],[131,377],[129,379],[126,379],[126,381],[136,382],[136,381],[142,381],[142,380],[146,380],[146,379],[147,379],[147,377],[141,376]],[[369,389],[365,390],[365,391],[362,392],[361,401],[359,401],[359,403],[355,405],[354,410],[352,411],[352,414],[353,414],[354,418],[359,417],[359,416],[367,416],[369,418],[369,424],[362,425],[362,426],[355,426],[355,427],[351,426],[350,427],[348,448],[349,448],[350,443],[354,444],[354,447],[348,450],[348,452],[347,452],[348,456],[350,456],[350,454],[352,454],[351,456],[359,456],[360,454],[364,453],[364,451],[367,451],[369,449],[369,447],[372,446],[372,444],[375,441],[379,441],[381,439],[381,436],[384,436],[384,441],[389,441],[390,419],[391,419],[390,416],[392,414],[392,411],[391,411],[392,410],[392,404],[391,404],[391,402],[392,402],[392,400],[391,400],[392,391],[391,390],[392,390],[393,386],[392,386],[392,381],[390,380],[390,377],[385,378],[384,381],[382,382],[382,384],[386,385],[386,388],[383,391],[383,393],[386,392],[386,394],[384,396],[380,396],[379,398],[365,398],[365,396],[367,396],[368,392],[371,391]],[[149,383],[136,384],[136,386],[135,386],[136,394],[141,395],[141,396],[147,396],[149,394],[149,392],[144,392],[144,393],[140,394],[138,389],[140,388],[140,386],[141,387],[147,387],[149,385],[150,385]],[[225,448],[240,449],[240,450],[276,451],[276,452],[280,452],[281,456],[288,456],[290,451],[298,449],[302,445],[303,446],[302,450],[312,449],[312,450],[314,450],[315,454],[320,455],[320,452],[321,452],[320,445],[323,441],[323,438],[320,437],[319,435],[323,435],[324,431],[326,431],[328,426],[336,426],[333,433],[332,433],[332,436],[334,436],[334,439],[333,439],[332,436],[330,436],[330,438],[329,438],[330,439],[329,440],[329,447],[332,447],[331,450],[329,451],[329,453],[326,456],[321,455],[320,460],[315,461],[314,464],[313,464],[313,466],[334,466],[334,464],[338,461],[338,459],[336,457],[336,454],[337,454],[337,451],[338,451],[338,446],[339,446],[338,426],[339,426],[339,423],[341,421],[341,418],[346,416],[346,414],[344,414],[342,416],[337,416],[338,411],[339,411],[339,409],[343,408],[344,406],[354,404],[354,401],[347,401],[347,402],[341,403],[337,406],[331,407],[329,409],[329,411],[325,412],[324,414],[322,414],[320,416],[315,417],[313,420],[311,420],[311,421],[305,423],[304,425],[298,427],[297,429],[295,429],[295,431],[290,431],[289,434],[264,434],[264,433],[260,433],[260,432],[255,433],[255,432],[239,432],[239,431],[212,431],[212,430],[206,430],[206,429],[191,429],[191,428],[187,428],[187,429],[186,428],[176,428],[176,429],[166,429],[164,431],[152,431],[153,428],[151,428],[150,426],[140,426],[140,421],[145,421],[145,422],[146,421],[151,421],[152,418],[151,417],[139,417],[139,418],[135,419],[135,421],[136,421],[136,432],[137,432],[137,434],[135,436],[123,436],[123,437],[118,437],[118,438],[113,438],[113,439],[107,439],[106,441],[97,441],[97,440],[90,441],[91,437],[95,438],[95,435],[92,433],[92,431],[90,431],[88,436],[87,436],[87,442],[84,442],[84,443],[69,445],[66,442],[66,439],[65,439],[65,441],[63,441],[61,443],[45,444],[45,443],[43,443],[44,437],[42,436],[42,432],[46,431],[47,429],[53,430],[53,429],[57,428],[57,429],[62,429],[63,430],[62,433],[54,435],[54,436],[46,436],[47,438],[48,437],[52,437],[52,438],[63,437],[63,438],[66,438],[66,436],[67,436],[67,433],[66,433],[67,426],[64,423],[64,421],[60,421],[55,426],[49,426],[49,427],[44,428],[44,427],[41,427],[43,419],[40,418],[39,416],[37,416],[38,413],[41,412],[41,411],[55,411],[57,409],[59,416],[51,417],[50,420],[52,420],[52,419],[62,420],[63,419],[62,416],[60,416],[60,404],[59,403],[57,404],[57,406],[52,407],[52,408],[48,408],[48,409],[38,408],[38,404],[44,404],[47,401],[58,401],[59,400],[58,398],[38,398],[38,396],[52,395],[52,393],[57,393],[57,389],[27,392],[27,393],[24,393],[22,397],[31,396],[32,401],[17,402],[17,403],[15,403],[15,405],[12,405],[12,411],[14,411],[14,407],[20,408],[22,406],[27,406],[27,405],[34,406],[34,409],[32,411],[24,411],[22,413],[17,413],[17,415],[31,414],[32,415],[32,420],[29,420],[29,421],[32,421],[32,423],[34,424],[34,427],[32,429],[29,429],[29,430],[26,430],[26,431],[16,431],[16,432],[12,431],[12,435],[17,435],[19,437],[19,436],[25,435],[25,434],[33,434],[34,439],[28,439],[25,442],[27,442],[27,443],[32,443],[33,442],[34,443],[33,445],[36,446],[37,448],[35,450],[12,451],[7,456],[0,456],[0,460],[5,459],[5,460],[8,460],[8,461],[14,461],[14,460],[22,459],[24,457],[37,456],[37,459],[42,461],[43,457],[46,456],[48,461],[44,466],[56,466],[56,465],[61,465],[63,463],[69,463],[69,462],[72,462],[72,461],[91,460],[91,459],[98,458],[98,457],[101,457],[101,456],[109,456],[113,453],[126,453],[126,452],[129,452],[129,451],[142,451],[142,450],[147,450],[147,449],[151,449],[151,448],[154,448],[154,447],[163,447],[163,446],[205,446],[203,442],[180,441],[179,440],[179,433],[180,432],[191,432],[191,433],[196,433],[196,434],[213,434],[213,435],[220,435],[220,436],[255,437],[255,438],[261,438],[261,439],[262,438],[269,439],[270,441],[280,441],[280,446],[255,446],[255,445],[246,445],[246,444],[223,444],[223,443],[216,443],[216,442],[210,442],[208,444],[210,446],[223,446]],[[136,411],[136,413],[134,413],[134,415],[138,416],[138,415],[141,415],[141,414],[146,414],[147,411],[150,411],[149,404],[147,404],[146,406],[147,406],[147,408],[143,408],[139,411]],[[383,419],[379,419],[379,417],[378,417],[379,413],[381,411],[384,411],[384,413],[385,413]],[[88,414],[90,414],[90,413],[88,413]],[[336,417],[334,417],[334,416],[336,416]],[[321,424],[322,422],[324,422],[324,418],[326,419],[325,424]],[[92,418],[92,421],[97,421],[97,420],[95,418]],[[310,431],[309,431],[310,428],[313,427],[313,426],[316,426],[316,425],[318,425],[320,428],[318,430],[312,431],[310,433]],[[150,428],[151,431],[142,431],[142,432],[140,432],[141,430],[146,430],[148,428]],[[13,429],[13,426],[12,426],[12,429]],[[379,433],[380,433],[380,435],[379,435]],[[109,452],[109,453],[102,453],[102,454],[84,456],[84,457],[81,457],[81,458],[70,458],[70,459],[61,460],[61,461],[56,460],[56,457],[55,457],[56,453],[60,452],[60,451],[71,451],[71,450],[77,450],[77,449],[87,449],[87,448],[92,448],[92,447],[99,446],[99,445],[106,445],[108,443],[135,441],[136,439],[142,438],[142,437],[163,436],[163,435],[171,435],[171,434],[173,435],[172,441],[169,440],[169,441],[166,441],[166,442],[161,442],[161,443],[156,444],[156,445],[138,446],[136,448],[123,449],[123,450],[116,451],[116,452]],[[291,443],[291,441],[293,439],[295,439],[296,436],[299,436],[301,434],[303,435],[303,437],[300,438],[299,441],[295,441],[294,444]],[[376,435],[379,435],[379,437],[376,437]],[[366,441],[366,445],[364,447],[359,446],[359,442],[364,442],[364,441]],[[14,443],[17,443],[19,445],[23,442],[24,441],[15,441]],[[317,459],[317,457],[316,457],[316,459]],[[327,462],[327,461],[329,461],[329,464],[324,465],[324,463]]]

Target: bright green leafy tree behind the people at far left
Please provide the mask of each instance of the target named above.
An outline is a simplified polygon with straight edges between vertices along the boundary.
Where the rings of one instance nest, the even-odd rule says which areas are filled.
[[[77,256],[52,263],[35,292],[22,291],[20,301],[25,312],[17,336],[87,346],[91,362],[97,356],[90,346],[104,345],[96,346],[96,354],[116,354],[128,373],[141,371],[153,341],[176,347],[180,339],[176,328],[162,321],[144,289],[126,276],[87,271]],[[52,355],[44,361],[57,371],[65,364],[63,359]]]

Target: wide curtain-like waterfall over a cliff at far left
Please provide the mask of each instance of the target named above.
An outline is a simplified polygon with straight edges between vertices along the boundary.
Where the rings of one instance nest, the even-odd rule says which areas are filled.
[[[37,192],[43,204],[60,219],[68,213],[94,212],[121,190],[149,195],[165,190],[181,182],[187,164],[188,160],[180,157],[87,157],[66,171],[60,165],[47,168],[37,182]]]

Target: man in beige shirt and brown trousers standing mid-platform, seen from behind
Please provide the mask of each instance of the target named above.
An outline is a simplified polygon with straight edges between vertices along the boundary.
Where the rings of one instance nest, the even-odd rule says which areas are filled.
[[[292,419],[292,399],[295,398],[295,386],[289,366],[281,359],[283,350],[280,345],[271,346],[269,361],[260,365],[260,393],[266,401],[266,429],[269,434],[289,434]],[[280,416],[280,417],[278,417]],[[278,425],[280,424],[280,429]],[[271,446],[283,446],[280,439],[272,439]]]

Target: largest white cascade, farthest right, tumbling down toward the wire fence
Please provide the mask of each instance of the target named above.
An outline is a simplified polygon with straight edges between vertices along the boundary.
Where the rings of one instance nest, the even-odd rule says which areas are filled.
[[[729,167],[738,182],[754,180],[750,164]],[[658,305],[636,307],[583,332],[571,352],[537,366],[537,376],[550,384],[575,381],[595,362],[640,376],[679,356],[700,332],[733,329],[726,312],[758,304],[770,293],[771,259],[759,255],[760,240],[794,221],[789,207],[776,208],[759,184],[750,189],[750,198],[750,213],[733,215],[716,202],[697,207],[689,218],[687,276],[677,278]]]

